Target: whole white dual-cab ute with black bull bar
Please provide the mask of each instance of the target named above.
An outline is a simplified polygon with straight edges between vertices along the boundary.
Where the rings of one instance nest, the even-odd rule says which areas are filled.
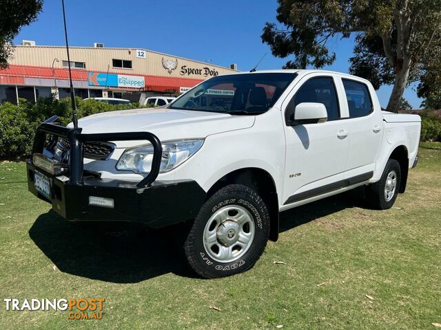
[[[83,118],[80,169],[74,129],[51,125],[57,143],[28,162],[35,195],[68,220],[188,221],[205,278],[251,268],[280,211],[358,186],[391,208],[420,138],[420,117],[381,111],[369,81],[316,70],[216,76],[161,108]]]

